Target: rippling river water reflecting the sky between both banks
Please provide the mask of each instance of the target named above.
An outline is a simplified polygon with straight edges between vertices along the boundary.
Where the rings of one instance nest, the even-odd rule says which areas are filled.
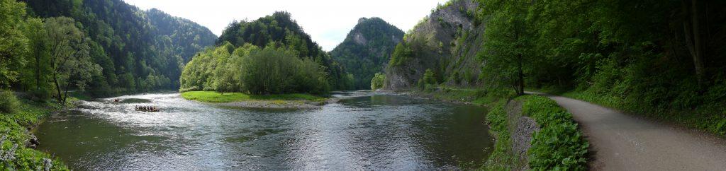
[[[348,98],[306,110],[219,107],[179,93],[120,96],[55,114],[36,135],[39,149],[74,170],[453,170],[478,167],[492,149],[483,107],[336,96]]]

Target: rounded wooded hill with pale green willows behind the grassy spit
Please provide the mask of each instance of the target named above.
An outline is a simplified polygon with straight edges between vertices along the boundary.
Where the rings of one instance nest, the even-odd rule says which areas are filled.
[[[353,85],[287,12],[232,22],[217,43],[184,67],[180,91],[327,93]]]

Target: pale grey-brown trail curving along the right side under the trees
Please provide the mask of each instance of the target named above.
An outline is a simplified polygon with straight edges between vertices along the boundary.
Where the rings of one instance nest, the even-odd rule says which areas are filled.
[[[726,170],[726,141],[695,130],[550,96],[571,112],[590,141],[591,170]]]

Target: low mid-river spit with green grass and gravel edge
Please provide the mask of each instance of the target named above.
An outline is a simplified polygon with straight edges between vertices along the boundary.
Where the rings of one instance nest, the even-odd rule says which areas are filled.
[[[322,105],[335,101],[303,93],[251,95],[246,93],[218,93],[214,91],[187,91],[181,93],[187,100],[217,104],[225,107],[257,109],[319,109]]]

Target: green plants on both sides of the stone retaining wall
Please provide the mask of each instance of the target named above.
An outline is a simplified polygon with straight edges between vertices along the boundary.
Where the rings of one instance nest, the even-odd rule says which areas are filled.
[[[531,117],[540,130],[532,136],[529,155],[531,170],[586,170],[589,143],[572,120],[572,114],[544,96],[520,96],[522,115]],[[511,151],[510,125],[505,103],[492,107],[486,120],[496,135],[492,155],[483,170],[510,170],[518,157]]]

